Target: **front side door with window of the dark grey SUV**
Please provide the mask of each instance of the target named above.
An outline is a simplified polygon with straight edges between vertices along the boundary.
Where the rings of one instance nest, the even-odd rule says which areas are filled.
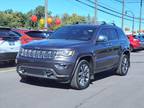
[[[109,39],[109,28],[102,28],[98,33],[98,36],[106,36]],[[97,42],[95,45],[95,62],[96,72],[104,71],[112,66],[112,46],[110,41]]]

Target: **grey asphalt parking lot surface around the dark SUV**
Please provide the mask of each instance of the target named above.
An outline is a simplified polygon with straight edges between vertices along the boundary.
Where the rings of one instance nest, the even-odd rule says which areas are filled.
[[[38,80],[23,82],[15,66],[0,66],[0,108],[144,108],[144,51],[131,54],[127,76],[97,74],[85,90]]]

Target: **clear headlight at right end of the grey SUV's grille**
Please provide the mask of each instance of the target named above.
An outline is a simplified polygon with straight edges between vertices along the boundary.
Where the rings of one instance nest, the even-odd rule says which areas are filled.
[[[75,54],[73,50],[59,50],[56,51],[55,57],[70,57]]]

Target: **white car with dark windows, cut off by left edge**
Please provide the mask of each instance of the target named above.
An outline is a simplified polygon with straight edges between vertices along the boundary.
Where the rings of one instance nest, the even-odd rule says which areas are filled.
[[[0,62],[14,61],[20,46],[18,34],[10,28],[0,27]]]

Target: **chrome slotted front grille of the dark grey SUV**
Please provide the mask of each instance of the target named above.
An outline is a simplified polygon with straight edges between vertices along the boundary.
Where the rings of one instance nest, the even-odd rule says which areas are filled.
[[[55,57],[55,51],[45,50],[33,50],[33,49],[21,49],[20,56],[39,59],[52,59]]]

